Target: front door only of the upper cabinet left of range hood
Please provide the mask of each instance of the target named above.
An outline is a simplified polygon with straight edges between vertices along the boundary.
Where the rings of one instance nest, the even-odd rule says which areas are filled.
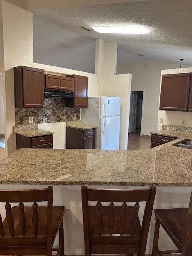
[[[44,73],[37,68],[23,68],[23,106],[44,106]]]

